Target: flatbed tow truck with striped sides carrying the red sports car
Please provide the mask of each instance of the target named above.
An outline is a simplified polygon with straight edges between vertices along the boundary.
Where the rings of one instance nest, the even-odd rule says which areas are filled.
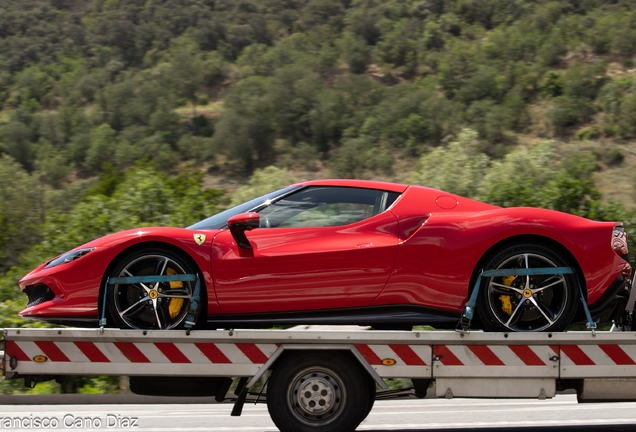
[[[555,271],[572,269],[505,270]],[[166,278],[196,275],[127,280]],[[471,331],[478,289],[455,331],[122,330],[105,328],[105,313],[99,329],[4,329],[2,373],[29,387],[68,375],[128,376],[137,394],[229,399],[233,416],[248,400],[263,402],[282,432],[353,431],[376,399],[423,398],[433,386],[442,398],[545,399],[574,390],[579,402],[636,401],[632,311],[614,320],[622,331],[596,331],[581,292],[588,331]],[[198,296],[197,283],[186,326],[196,322]],[[389,390],[385,379],[393,378],[413,388]]]

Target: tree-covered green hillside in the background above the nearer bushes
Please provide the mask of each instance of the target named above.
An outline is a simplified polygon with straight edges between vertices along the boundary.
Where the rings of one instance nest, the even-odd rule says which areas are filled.
[[[5,0],[1,149],[63,188],[71,174],[93,177],[105,163],[170,170],[196,160],[249,172],[288,153],[344,175],[345,154],[372,147],[382,163],[365,168],[390,172],[395,159],[464,127],[496,157],[520,134],[629,140],[633,8],[600,0]]]

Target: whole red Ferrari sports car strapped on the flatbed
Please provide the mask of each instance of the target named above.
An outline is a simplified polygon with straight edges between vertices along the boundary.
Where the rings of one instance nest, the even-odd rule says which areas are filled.
[[[561,331],[584,319],[581,296],[596,321],[619,317],[630,275],[620,223],[420,186],[317,180],[188,228],[139,228],[79,246],[20,281],[28,296],[20,315],[180,328],[200,284],[196,328],[453,328],[479,279],[473,327]]]

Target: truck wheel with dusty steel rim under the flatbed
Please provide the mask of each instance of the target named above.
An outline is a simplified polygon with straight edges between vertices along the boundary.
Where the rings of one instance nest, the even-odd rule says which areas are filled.
[[[365,374],[343,353],[290,355],[272,372],[267,409],[281,432],[354,431],[370,408]]]

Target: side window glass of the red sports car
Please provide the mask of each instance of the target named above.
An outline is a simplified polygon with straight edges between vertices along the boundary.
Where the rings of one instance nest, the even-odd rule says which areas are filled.
[[[383,212],[398,196],[376,189],[309,187],[261,210],[261,227],[348,225]]]

